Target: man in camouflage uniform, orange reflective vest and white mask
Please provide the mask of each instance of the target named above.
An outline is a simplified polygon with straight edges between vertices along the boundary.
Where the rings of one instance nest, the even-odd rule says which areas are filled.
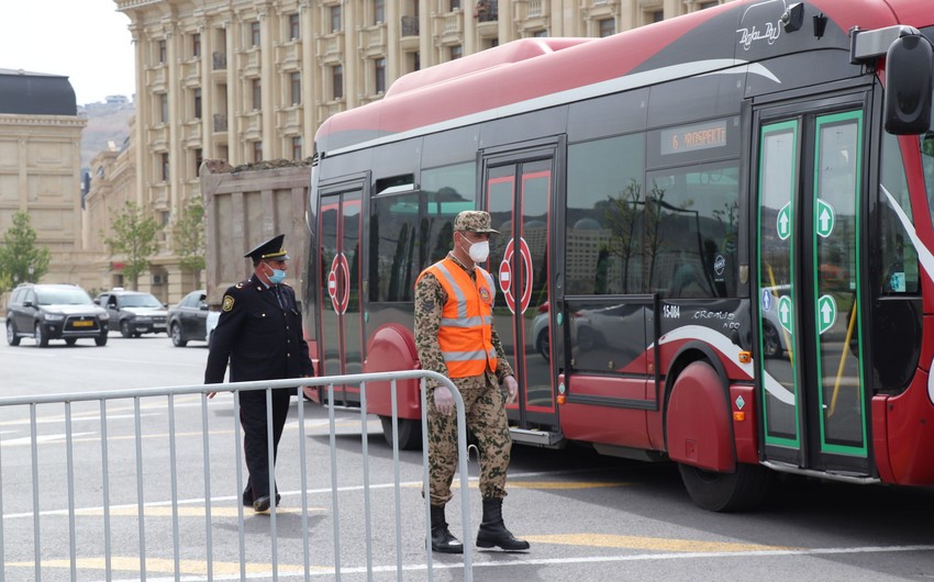
[[[512,438],[500,384],[509,402],[515,400],[518,384],[493,326],[493,279],[478,266],[487,261],[491,234],[499,233],[486,212],[465,211],[454,219],[454,250],[415,282],[415,346],[422,369],[447,376],[459,390],[467,427],[477,439],[483,497],[477,546],[525,550],[529,542],[513,537],[502,519]],[[426,388],[432,550],[462,553],[464,546],[444,516],[457,467],[454,396],[446,387]]]

